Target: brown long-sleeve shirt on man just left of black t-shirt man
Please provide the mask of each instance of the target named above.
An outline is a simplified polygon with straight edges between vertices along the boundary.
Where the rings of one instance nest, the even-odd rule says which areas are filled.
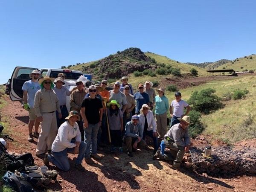
[[[78,89],[74,90],[70,95],[70,111],[77,111],[80,114],[80,109],[82,106],[82,102],[84,100],[84,96],[87,94],[87,91]]]

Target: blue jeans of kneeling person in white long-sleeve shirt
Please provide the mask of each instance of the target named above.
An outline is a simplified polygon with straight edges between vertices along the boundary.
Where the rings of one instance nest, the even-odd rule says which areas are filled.
[[[79,145],[79,153],[76,159],[76,165],[82,163],[82,160],[84,158],[85,150],[86,150],[87,144],[81,141]],[[52,162],[55,166],[58,167],[58,169],[61,169],[64,172],[67,172],[70,169],[70,163],[67,159],[67,153],[72,153],[74,151],[73,148],[66,148],[63,151],[54,152],[52,151],[52,155],[48,155],[49,162]]]

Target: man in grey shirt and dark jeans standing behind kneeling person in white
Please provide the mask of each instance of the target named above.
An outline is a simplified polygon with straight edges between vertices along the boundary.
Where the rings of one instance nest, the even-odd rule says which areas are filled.
[[[61,119],[59,119],[58,111],[56,111],[57,125],[59,128],[61,124],[65,122],[65,117],[68,116],[66,102],[67,102],[67,96],[70,96],[71,92],[67,89],[67,87],[64,86],[65,81],[61,77],[58,77],[57,79],[55,79],[53,83],[55,84],[55,87],[53,87],[53,90],[57,94],[59,105],[61,108],[61,114],[62,114]]]

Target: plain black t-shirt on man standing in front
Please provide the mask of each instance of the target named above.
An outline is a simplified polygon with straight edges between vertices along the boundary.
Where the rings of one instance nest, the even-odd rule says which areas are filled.
[[[99,109],[102,108],[102,101],[98,97],[95,97],[95,99],[85,98],[81,107],[85,108],[88,123],[95,125],[99,122]]]

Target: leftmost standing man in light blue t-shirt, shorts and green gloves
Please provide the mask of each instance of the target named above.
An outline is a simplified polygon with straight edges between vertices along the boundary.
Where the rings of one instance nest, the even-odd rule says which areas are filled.
[[[33,137],[38,138],[38,127],[40,122],[36,121],[35,109],[34,109],[34,99],[35,93],[40,90],[40,84],[38,79],[41,77],[41,73],[38,70],[33,70],[30,75],[31,80],[26,81],[23,86],[23,101],[24,109],[29,111],[29,138],[28,141],[32,142]],[[33,126],[35,125],[35,132],[32,134]]]

